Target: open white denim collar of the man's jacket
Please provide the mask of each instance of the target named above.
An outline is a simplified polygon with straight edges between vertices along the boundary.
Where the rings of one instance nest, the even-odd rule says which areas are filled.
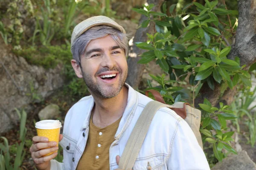
[[[119,123],[119,127],[116,131],[115,139],[118,140],[120,136],[122,136],[122,133],[127,129],[128,125],[131,122],[131,119],[134,116],[135,108],[138,104],[138,95],[137,92],[127,83],[125,83],[125,86],[128,88],[128,99],[127,99],[127,105],[125,107],[125,111],[122,115],[121,121]],[[90,101],[87,105],[87,110],[83,126],[81,127],[81,130],[87,128],[89,126],[90,122],[90,116],[94,105],[94,99],[92,96],[90,96]]]

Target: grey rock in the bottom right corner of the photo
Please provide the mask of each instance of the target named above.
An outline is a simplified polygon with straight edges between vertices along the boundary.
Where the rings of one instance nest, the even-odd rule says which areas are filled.
[[[230,155],[218,162],[212,170],[256,170],[256,164],[250,159],[247,152],[242,150],[238,155]]]

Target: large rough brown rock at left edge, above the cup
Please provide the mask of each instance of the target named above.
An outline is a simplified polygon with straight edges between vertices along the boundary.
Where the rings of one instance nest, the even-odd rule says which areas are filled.
[[[28,113],[29,103],[45,99],[64,85],[64,75],[61,65],[54,69],[29,65],[12,54],[1,38],[0,51],[0,133],[4,133],[17,123],[15,108]]]

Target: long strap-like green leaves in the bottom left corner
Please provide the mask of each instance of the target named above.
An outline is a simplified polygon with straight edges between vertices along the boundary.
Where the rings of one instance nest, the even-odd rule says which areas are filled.
[[[19,118],[20,118],[20,144],[16,143],[17,151],[15,153],[16,157],[14,160],[14,164],[11,163],[11,157],[10,157],[10,149],[9,149],[9,143],[8,140],[1,136],[0,139],[3,139],[3,143],[0,143],[0,167],[1,170],[20,170],[20,165],[22,164],[22,161],[25,156],[25,151],[23,150],[24,144],[25,144],[25,136],[26,136],[26,118],[27,114],[25,111],[18,111],[15,108]],[[12,148],[12,147],[11,147]],[[12,149],[12,151],[15,151]]]

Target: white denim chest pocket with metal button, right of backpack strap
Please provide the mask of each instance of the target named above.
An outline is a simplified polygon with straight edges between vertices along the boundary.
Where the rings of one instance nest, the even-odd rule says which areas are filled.
[[[163,164],[163,156],[148,156],[136,159],[133,170],[162,170]]]

